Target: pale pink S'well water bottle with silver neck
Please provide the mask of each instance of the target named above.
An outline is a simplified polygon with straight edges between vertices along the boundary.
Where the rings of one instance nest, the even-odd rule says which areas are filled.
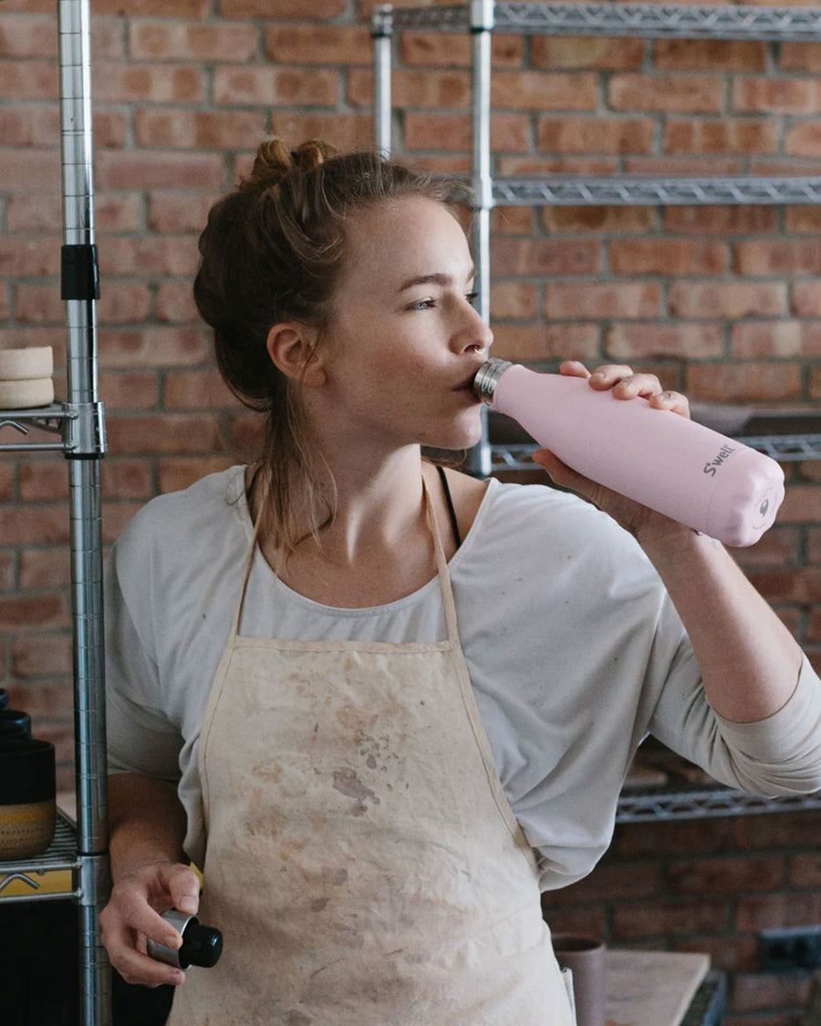
[[[580,474],[727,545],[753,545],[784,499],[770,457],[647,399],[487,360],[476,395]]]

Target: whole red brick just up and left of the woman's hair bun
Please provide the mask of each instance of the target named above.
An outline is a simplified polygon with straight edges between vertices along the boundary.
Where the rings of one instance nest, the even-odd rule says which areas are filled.
[[[146,149],[256,149],[265,135],[262,111],[250,114],[177,108],[134,112],[134,140]]]

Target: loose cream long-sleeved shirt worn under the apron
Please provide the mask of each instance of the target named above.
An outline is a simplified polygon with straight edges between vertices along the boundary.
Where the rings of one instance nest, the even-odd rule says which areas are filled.
[[[197,745],[252,526],[243,468],[140,511],[106,579],[112,773],[174,782],[202,865]],[[775,715],[716,715],[680,620],[641,549],[574,496],[492,480],[448,564],[462,648],[508,800],[545,890],[607,850],[635,750],[653,734],[731,787],[821,789],[821,682],[804,661]],[[337,609],[287,588],[256,553],[241,634],[302,640],[446,636],[436,580],[389,605]]]

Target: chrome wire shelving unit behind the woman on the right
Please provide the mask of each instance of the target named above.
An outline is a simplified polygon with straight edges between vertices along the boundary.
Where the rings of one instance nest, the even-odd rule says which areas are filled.
[[[391,75],[394,36],[402,31],[467,33],[472,60],[472,170],[474,260],[478,309],[490,319],[490,215],[496,206],[635,204],[815,204],[821,201],[821,176],[665,176],[627,174],[495,175],[491,152],[491,37],[494,32],[522,35],[639,37],[644,39],[739,39],[770,42],[821,41],[819,7],[657,5],[647,3],[513,3],[469,0],[440,7],[374,9],[375,145],[392,152]],[[494,415],[486,415],[482,441],[471,470],[496,472],[534,469],[530,438],[494,437]],[[506,420],[506,419],[504,419]],[[755,430],[732,432],[745,444],[780,462],[821,459],[821,418],[814,415],[797,428],[778,417],[756,417]],[[800,421],[800,416],[797,418]],[[768,430],[772,428],[772,430]],[[760,429],[760,430],[758,430]],[[731,432],[725,432],[731,433]],[[505,436],[505,432],[501,432]],[[649,788],[625,791],[617,822],[739,816],[821,808],[821,794],[795,798],[758,798],[719,785],[703,788]]]

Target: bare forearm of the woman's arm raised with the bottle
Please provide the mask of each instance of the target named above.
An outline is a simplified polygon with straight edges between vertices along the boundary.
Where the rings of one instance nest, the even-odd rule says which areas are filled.
[[[713,709],[761,720],[792,695],[802,652],[724,546],[675,524],[638,535],[681,618]]]

